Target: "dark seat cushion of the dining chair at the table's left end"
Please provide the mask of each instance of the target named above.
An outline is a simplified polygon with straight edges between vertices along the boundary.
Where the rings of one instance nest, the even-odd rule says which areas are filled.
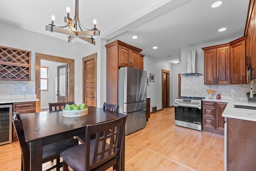
[[[43,146],[43,160],[46,158],[59,155],[62,151],[78,145],[78,141],[74,138],[64,139],[56,143]]]

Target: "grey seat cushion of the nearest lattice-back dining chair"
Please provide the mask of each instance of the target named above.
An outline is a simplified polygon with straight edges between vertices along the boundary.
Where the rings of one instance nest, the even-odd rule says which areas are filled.
[[[95,146],[95,139],[90,141],[90,163],[92,163],[93,155],[94,155],[94,146]],[[85,168],[85,143],[80,145],[76,145],[70,149],[67,149],[60,153],[60,157],[74,170],[76,171],[84,171]],[[102,148],[102,141],[99,142],[99,148]],[[109,148],[108,143],[106,143],[106,149]],[[98,150],[99,151],[99,150]],[[104,157],[108,154],[105,153]],[[98,156],[97,160],[100,160],[100,156]]]

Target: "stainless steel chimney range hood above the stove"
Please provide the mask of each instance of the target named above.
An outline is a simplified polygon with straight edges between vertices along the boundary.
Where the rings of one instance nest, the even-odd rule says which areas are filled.
[[[197,73],[197,51],[196,50],[190,50],[187,52],[186,73],[181,75],[182,76],[201,76],[202,75]]]

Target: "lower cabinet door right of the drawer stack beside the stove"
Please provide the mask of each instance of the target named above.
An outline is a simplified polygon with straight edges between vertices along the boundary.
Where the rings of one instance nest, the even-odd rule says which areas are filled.
[[[227,103],[216,102],[216,129],[224,131],[224,117],[222,113],[226,108]]]

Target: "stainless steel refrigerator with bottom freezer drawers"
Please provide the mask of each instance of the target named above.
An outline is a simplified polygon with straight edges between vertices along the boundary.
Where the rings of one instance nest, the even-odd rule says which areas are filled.
[[[147,72],[124,67],[118,72],[119,113],[127,116],[125,135],[146,126]]]

